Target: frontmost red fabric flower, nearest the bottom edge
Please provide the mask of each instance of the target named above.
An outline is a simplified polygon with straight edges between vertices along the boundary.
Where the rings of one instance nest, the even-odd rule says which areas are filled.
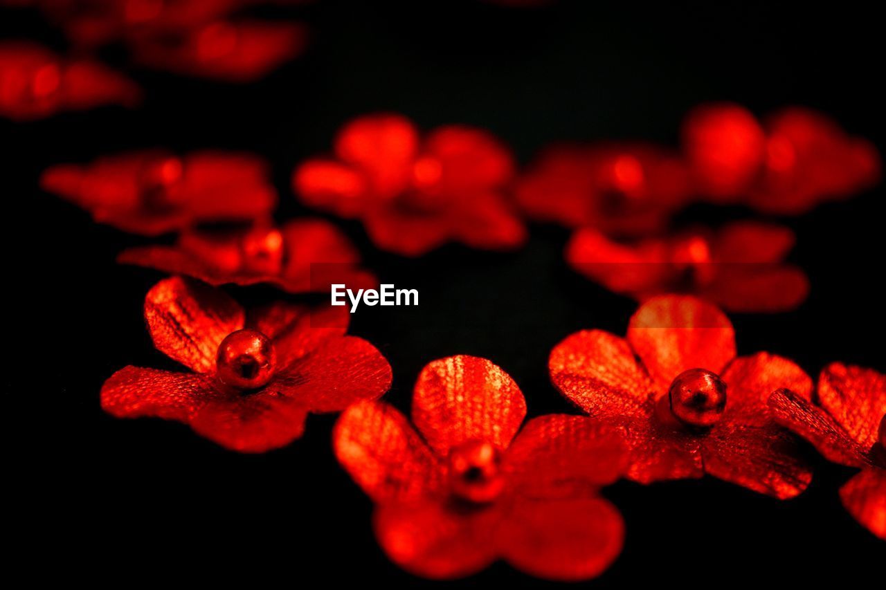
[[[417,432],[380,402],[339,417],[338,461],[376,501],[376,536],[394,563],[459,578],[501,558],[540,578],[582,579],[618,556],[624,524],[596,493],[623,473],[624,442],[571,415],[535,418],[517,435],[525,413],[507,373],[453,356],[418,377]]]

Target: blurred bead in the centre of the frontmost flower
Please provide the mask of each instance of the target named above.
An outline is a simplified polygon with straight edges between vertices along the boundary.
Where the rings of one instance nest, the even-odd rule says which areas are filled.
[[[455,446],[449,452],[449,485],[461,500],[473,504],[494,501],[504,489],[499,450],[478,439]]]

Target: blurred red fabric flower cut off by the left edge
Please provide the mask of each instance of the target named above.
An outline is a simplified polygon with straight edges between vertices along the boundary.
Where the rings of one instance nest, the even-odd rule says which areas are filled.
[[[140,100],[135,82],[95,61],[59,58],[35,43],[0,43],[0,116],[35,120]]]

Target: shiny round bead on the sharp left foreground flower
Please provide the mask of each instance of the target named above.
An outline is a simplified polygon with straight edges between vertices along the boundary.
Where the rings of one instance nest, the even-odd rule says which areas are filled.
[[[215,357],[215,371],[221,383],[239,390],[268,384],[275,369],[274,344],[258,330],[231,332],[221,341]]]

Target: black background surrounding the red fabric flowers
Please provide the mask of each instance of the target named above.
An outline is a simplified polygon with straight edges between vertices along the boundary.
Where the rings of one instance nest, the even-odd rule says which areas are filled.
[[[23,427],[8,447],[10,465],[37,474],[9,487],[40,499],[11,502],[9,510],[27,523],[19,548],[45,563],[32,575],[431,584],[378,549],[371,503],[331,453],[334,416],[312,416],[303,439],[250,456],[178,423],[101,412],[98,391],[116,369],[175,367],[153,349],[142,319],[144,293],[160,275],[116,266],[121,248],[145,240],[96,226],[38,190],[44,167],[152,146],[255,151],[273,164],[278,216],[286,219],[307,213],[291,195],[293,165],[327,151],[342,122],[378,110],[407,114],[424,128],[489,128],[522,162],[563,139],[675,145],[683,113],[710,99],[736,100],[758,114],[809,105],[881,152],[886,147],[882,21],[874,14],[847,3],[594,4],[511,10],[452,0],[319,1],[268,9],[261,13],[306,20],[314,39],[305,56],[263,82],[238,87],[128,70],[146,93],[136,112],[0,120],[4,252],[12,263],[4,281],[4,422]],[[0,36],[66,49],[35,12],[0,12]],[[126,66],[120,50],[103,57]],[[788,220],[798,234],[794,260],[811,276],[812,295],[793,313],[734,316],[740,353],[780,353],[811,374],[836,360],[886,369],[882,196],[878,187]],[[682,221],[749,215],[696,207]],[[420,307],[366,307],[351,329],[391,361],[387,399],[403,410],[426,362],[470,353],[517,380],[531,416],[572,412],[548,381],[551,347],[582,328],[623,334],[634,308],[564,267],[563,229],[533,227],[530,244],[512,254],[447,246],[402,260],[374,250],[359,224],[340,225],[385,283],[421,291]],[[277,295],[231,291],[246,303]],[[711,477],[611,486],[606,495],[625,516],[626,545],[590,584],[877,584],[886,544],[844,512],[836,493],[851,470],[815,461],[812,486],[794,501]],[[461,583],[536,580],[499,563]]]

